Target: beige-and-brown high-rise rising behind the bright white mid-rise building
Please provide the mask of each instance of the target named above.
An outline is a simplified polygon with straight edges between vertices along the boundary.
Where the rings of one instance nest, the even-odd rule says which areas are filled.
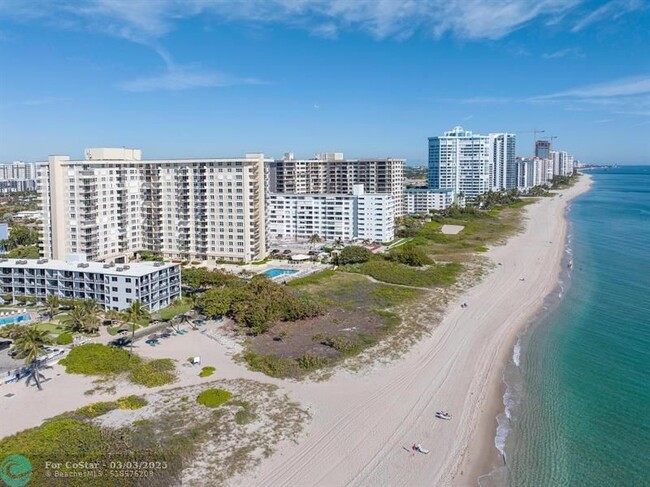
[[[366,193],[390,194],[395,216],[404,212],[404,159],[345,159],[341,152],[295,159],[293,154],[269,164],[269,193],[352,194],[355,184]]]

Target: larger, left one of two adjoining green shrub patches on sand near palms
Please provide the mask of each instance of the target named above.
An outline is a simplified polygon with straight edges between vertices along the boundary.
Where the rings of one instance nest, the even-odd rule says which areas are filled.
[[[67,357],[59,363],[69,374],[110,375],[127,372],[130,367],[141,362],[140,357],[133,355],[129,362],[129,352],[119,348],[88,343],[73,348]]]

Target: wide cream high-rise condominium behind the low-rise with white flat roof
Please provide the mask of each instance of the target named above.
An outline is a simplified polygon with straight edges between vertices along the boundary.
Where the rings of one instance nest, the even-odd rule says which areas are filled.
[[[87,149],[40,166],[43,257],[126,262],[142,250],[182,260],[266,255],[263,154],[142,160],[137,149]]]

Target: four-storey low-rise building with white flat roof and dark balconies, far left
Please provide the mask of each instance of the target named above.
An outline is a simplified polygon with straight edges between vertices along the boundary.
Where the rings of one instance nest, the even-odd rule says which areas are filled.
[[[150,311],[181,296],[178,264],[102,264],[47,259],[0,259],[0,293],[44,302],[47,296],[91,299],[104,309],[123,310],[137,300]]]

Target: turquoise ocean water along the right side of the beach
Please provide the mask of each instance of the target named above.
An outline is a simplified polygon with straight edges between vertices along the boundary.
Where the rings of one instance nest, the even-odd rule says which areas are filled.
[[[590,173],[558,290],[505,370],[505,465],[482,486],[650,486],[650,166]]]

